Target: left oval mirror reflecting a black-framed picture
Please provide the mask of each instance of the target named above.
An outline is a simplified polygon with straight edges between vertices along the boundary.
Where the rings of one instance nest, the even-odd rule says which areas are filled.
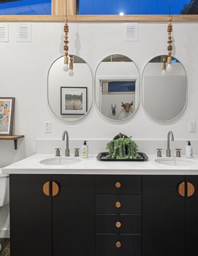
[[[48,74],[48,102],[52,112],[65,121],[82,118],[91,108],[93,77],[89,65],[74,55],[70,76],[63,70],[64,56],[57,59]]]

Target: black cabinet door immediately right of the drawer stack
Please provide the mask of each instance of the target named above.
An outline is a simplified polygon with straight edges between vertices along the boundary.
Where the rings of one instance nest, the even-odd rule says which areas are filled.
[[[185,176],[143,176],[143,256],[185,255]],[[191,255],[192,256],[192,255]]]

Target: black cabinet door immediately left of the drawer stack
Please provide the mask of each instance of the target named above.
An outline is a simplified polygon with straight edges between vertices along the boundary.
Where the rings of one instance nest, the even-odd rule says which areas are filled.
[[[52,175],[53,256],[95,255],[93,175]]]

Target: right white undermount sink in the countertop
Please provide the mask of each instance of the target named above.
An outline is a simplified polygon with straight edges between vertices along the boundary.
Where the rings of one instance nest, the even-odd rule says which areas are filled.
[[[161,158],[161,159],[155,159],[155,162],[158,164],[164,164],[164,165],[171,165],[171,166],[195,166],[197,163],[188,160],[188,159],[181,159],[181,158]]]

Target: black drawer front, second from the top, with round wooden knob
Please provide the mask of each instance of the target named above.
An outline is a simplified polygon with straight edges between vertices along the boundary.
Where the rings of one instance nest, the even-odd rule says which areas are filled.
[[[142,195],[96,194],[95,213],[99,214],[141,214]]]

